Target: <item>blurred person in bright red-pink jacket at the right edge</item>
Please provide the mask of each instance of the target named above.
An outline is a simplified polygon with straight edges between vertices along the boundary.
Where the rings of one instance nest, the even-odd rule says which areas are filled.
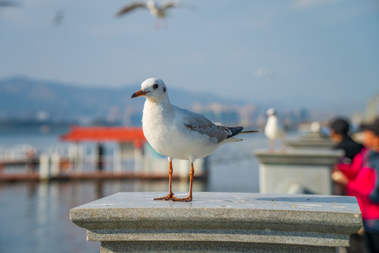
[[[343,170],[334,171],[332,179],[345,186],[347,195],[357,197],[368,252],[379,252],[379,118],[361,129],[364,146],[369,150],[362,157],[361,168],[354,177]]]

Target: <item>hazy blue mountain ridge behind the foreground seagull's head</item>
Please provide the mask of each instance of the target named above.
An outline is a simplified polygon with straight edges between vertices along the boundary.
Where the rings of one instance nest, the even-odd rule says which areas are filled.
[[[55,121],[80,117],[104,119],[111,108],[119,108],[120,113],[127,108],[134,108],[142,113],[145,99],[131,99],[131,95],[138,89],[140,84],[128,84],[121,88],[99,88],[39,81],[27,77],[0,79],[0,118],[35,118],[38,113],[43,112],[47,113],[50,120]],[[191,108],[194,103],[243,103],[180,89],[168,88],[168,92],[171,102],[184,108]]]

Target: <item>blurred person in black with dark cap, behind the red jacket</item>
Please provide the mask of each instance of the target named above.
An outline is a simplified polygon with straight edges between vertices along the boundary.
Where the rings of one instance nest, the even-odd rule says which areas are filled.
[[[333,149],[342,149],[345,151],[345,157],[350,161],[357,155],[363,145],[355,142],[349,135],[350,125],[347,120],[338,118],[331,122],[331,131],[329,137],[335,143],[337,143]]]

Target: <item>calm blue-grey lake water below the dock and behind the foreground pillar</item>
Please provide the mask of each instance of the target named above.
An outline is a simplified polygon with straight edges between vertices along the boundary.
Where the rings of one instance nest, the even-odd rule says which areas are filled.
[[[55,145],[65,131],[2,131],[0,145]],[[269,144],[262,133],[242,138],[244,141],[223,145],[210,155],[208,182],[194,181],[194,200],[197,191],[259,191],[258,161],[253,153]],[[99,252],[100,242],[86,241],[86,230],[69,220],[69,209],[118,192],[167,190],[168,179],[0,183],[0,252]],[[174,193],[187,190],[187,181],[173,181]]]

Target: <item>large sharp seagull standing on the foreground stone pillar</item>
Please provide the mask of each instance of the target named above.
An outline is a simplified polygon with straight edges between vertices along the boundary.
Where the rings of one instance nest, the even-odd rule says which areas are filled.
[[[257,131],[242,131],[242,126],[228,127],[214,124],[203,115],[171,105],[166,84],[161,79],[149,78],[131,98],[146,98],[142,114],[142,130],[147,141],[159,154],[168,157],[168,195],[154,200],[192,201],[194,161],[213,153],[220,145],[242,141],[237,134]],[[171,190],[173,159],[189,160],[188,197],[174,197]]]

